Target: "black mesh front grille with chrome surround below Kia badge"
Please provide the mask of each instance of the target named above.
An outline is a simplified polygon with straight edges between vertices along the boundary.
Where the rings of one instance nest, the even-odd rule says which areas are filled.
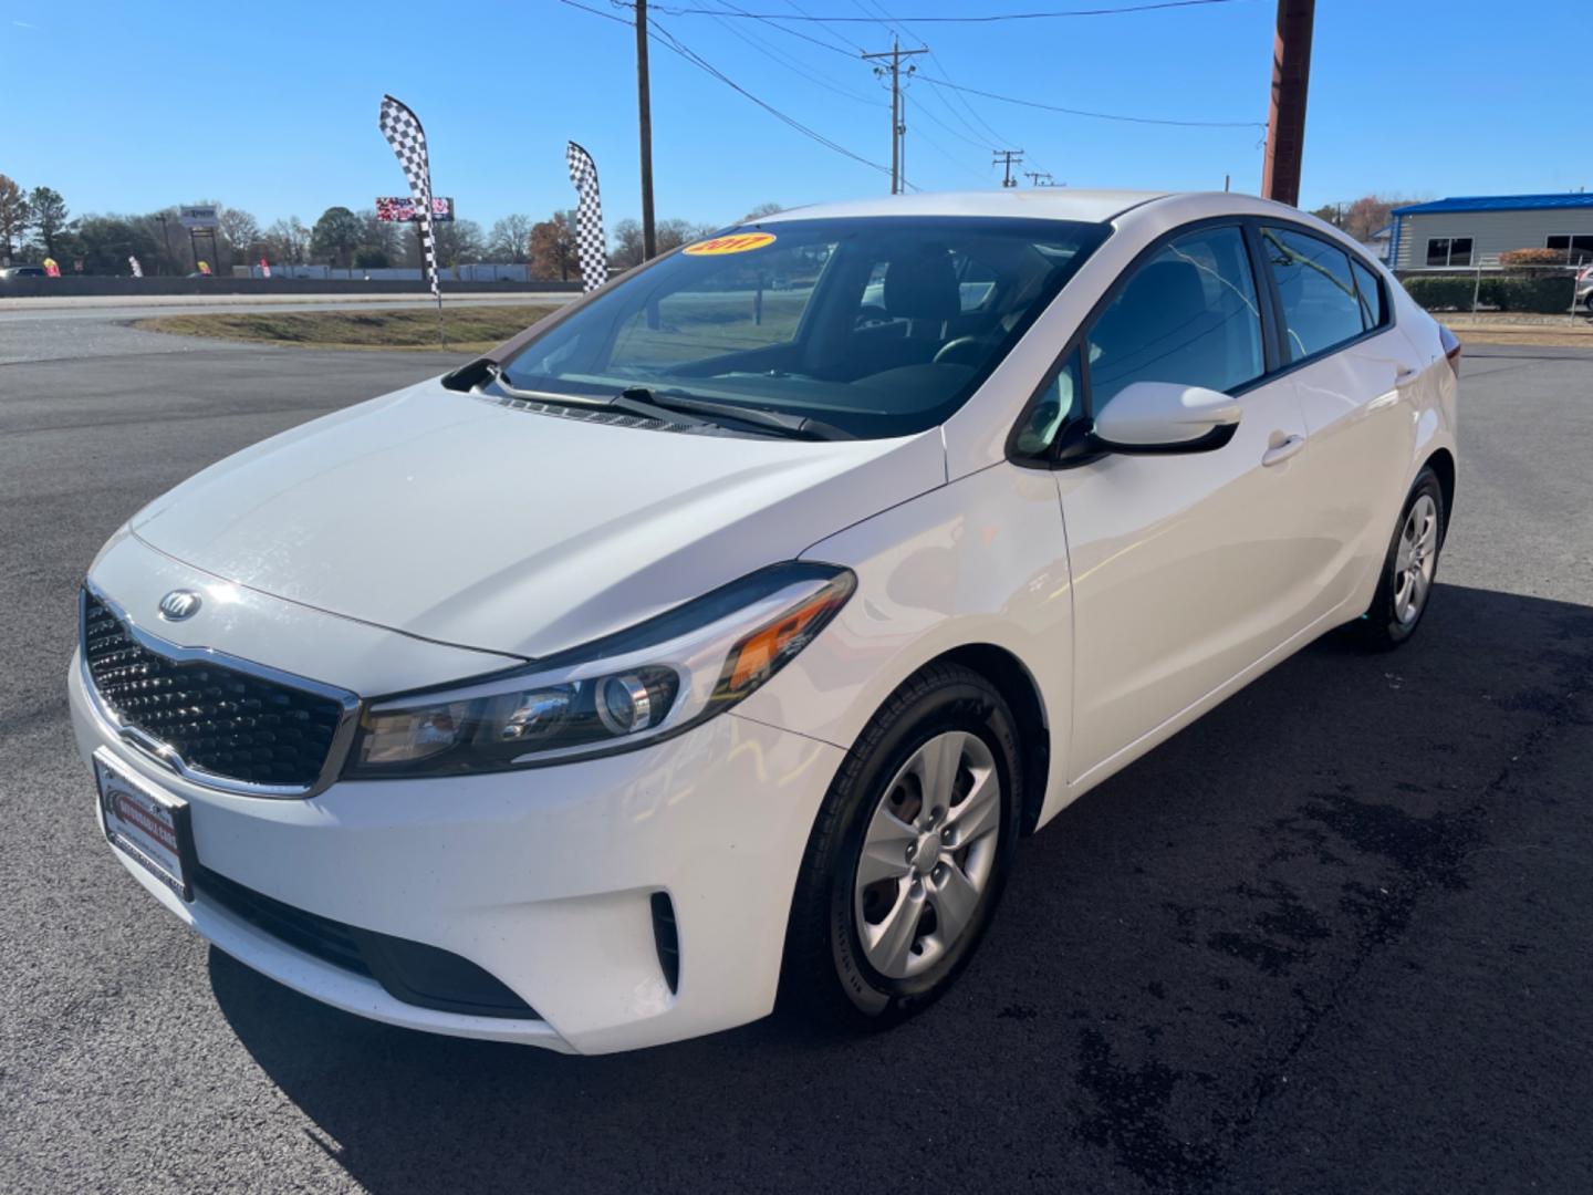
[[[245,784],[311,787],[342,703],[209,660],[174,660],[83,594],[83,660],[100,701],[183,763]]]

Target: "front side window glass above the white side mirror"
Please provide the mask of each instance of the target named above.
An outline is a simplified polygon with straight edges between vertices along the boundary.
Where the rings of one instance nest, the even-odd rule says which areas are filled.
[[[1265,370],[1255,277],[1239,228],[1203,228],[1141,264],[1086,341],[1101,414],[1131,382],[1228,392]]]

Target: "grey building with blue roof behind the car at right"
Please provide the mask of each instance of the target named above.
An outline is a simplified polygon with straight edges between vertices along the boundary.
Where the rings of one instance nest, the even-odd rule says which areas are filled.
[[[1499,269],[1512,249],[1553,249],[1593,261],[1593,194],[1477,194],[1392,212],[1389,264],[1400,271]]]

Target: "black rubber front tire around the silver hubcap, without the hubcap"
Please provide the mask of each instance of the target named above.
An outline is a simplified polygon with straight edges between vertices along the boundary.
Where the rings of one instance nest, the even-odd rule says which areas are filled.
[[[1016,727],[983,676],[945,663],[916,672],[875,714],[830,784],[808,840],[785,934],[782,1013],[828,1028],[883,1029],[927,1009],[962,974],[1000,902],[1018,844]],[[918,975],[889,978],[867,961],[854,916],[863,835],[903,765],[948,730],[978,736],[994,760],[1000,781],[994,864],[972,918],[945,954]]]

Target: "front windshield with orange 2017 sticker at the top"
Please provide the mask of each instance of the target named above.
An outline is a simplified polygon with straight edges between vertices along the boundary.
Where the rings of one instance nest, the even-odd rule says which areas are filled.
[[[867,217],[746,225],[660,260],[503,365],[523,390],[690,395],[910,435],[956,411],[1104,225]]]

